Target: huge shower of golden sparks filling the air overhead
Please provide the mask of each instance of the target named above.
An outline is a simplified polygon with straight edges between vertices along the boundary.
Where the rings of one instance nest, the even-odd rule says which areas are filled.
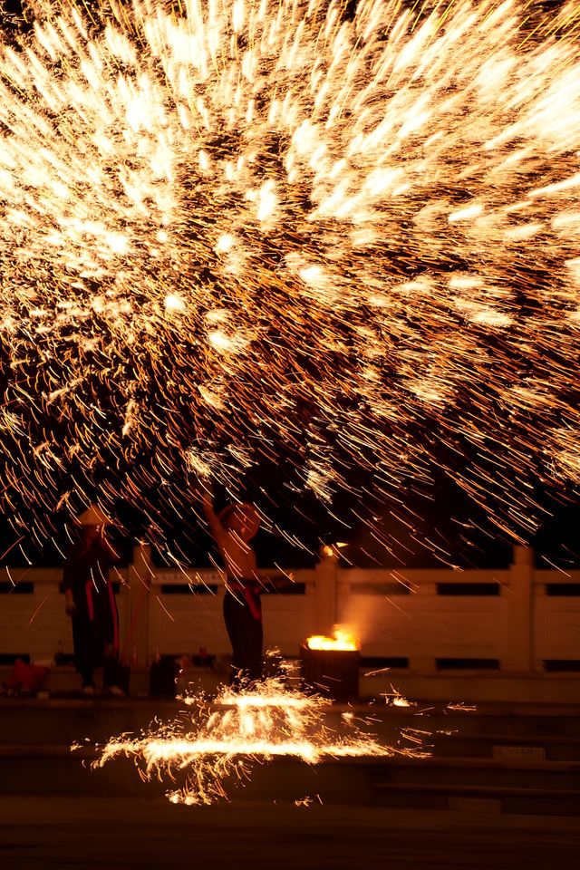
[[[241,497],[268,463],[390,504],[438,466],[512,536],[580,483],[580,3],[534,6],[31,3],[0,45],[15,536],[124,499],[159,542],[188,474]]]

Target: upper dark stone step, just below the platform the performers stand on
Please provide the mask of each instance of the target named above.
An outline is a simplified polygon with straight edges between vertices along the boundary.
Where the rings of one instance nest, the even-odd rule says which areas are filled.
[[[221,708],[223,710],[223,708]],[[122,732],[147,729],[152,720],[191,714],[176,700],[139,698],[0,699],[0,744],[102,742]],[[341,732],[344,713],[385,744],[411,747],[415,739],[440,756],[493,757],[494,747],[514,747],[512,756],[539,758],[524,749],[544,749],[546,759],[574,760],[580,743],[580,707],[481,705],[477,710],[418,703],[414,707],[373,704],[333,705],[325,724]],[[504,756],[509,751],[504,751]],[[500,755],[501,751],[496,752]]]

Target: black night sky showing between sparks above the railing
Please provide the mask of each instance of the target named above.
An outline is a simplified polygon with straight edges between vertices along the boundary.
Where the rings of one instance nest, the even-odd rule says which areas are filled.
[[[558,5],[560,4],[536,4],[545,11]],[[21,26],[18,20],[20,5],[15,0],[5,0],[3,6],[5,27],[9,29],[12,26]],[[345,14],[352,14],[352,10],[353,4],[348,4]],[[396,267],[401,270],[404,270],[404,266],[399,262],[399,257],[402,262],[403,254],[404,252],[399,252],[393,255]],[[549,284],[550,275],[545,272],[536,272],[531,277],[537,285]],[[522,296],[519,299],[521,316],[525,317],[534,304],[534,299]],[[1,348],[0,353],[2,353]],[[171,348],[168,348],[166,353],[169,365]],[[556,362],[562,361],[556,360]],[[42,377],[38,379],[34,371],[35,364],[33,360],[28,376],[31,382],[38,382],[38,388],[42,391],[43,380]],[[126,361],[124,364],[127,365],[127,371],[130,373],[131,361]],[[524,357],[521,365],[522,371],[525,372],[527,360]],[[150,382],[152,390],[156,389],[156,377],[157,375],[152,372]],[[2,362],[2,357],[0,357],[0,378],[4,379],[6,404],[10,404],[10,401],[14,400],[14,395],[9,389],[6,391],[10,372]],[[106,389],[103,390],[96,382],[92,384],[92,390],[93,394],[99,396],[104,414],[107,415],[105,428],[118,426],[120,408],[116,405],[115,396],[107,394]],[[574,401],[574,397],[568,396],[567,399]],[[469,401],[469,396],[466,401]],[[459,411],[469,411],[469,407],[462,409],[459,401],[459,409],[456,408],[451,413],[459,414]],[[453,420],[448,422],[452,427]],[[31,425],[36,427],[38,437],[42,435],[43,430],[49,431],[51,437],[59,437],[60,423],[56,412],[52,417],[49,415],[48,418],[35,420]],[[530,412],[527,425],[530,430],[539,430],[542,421],[535,420],[533,412]],[[508,428],[509,421],[506,421],[506,426]],[[265,566],[274,563],[310,565],[314,562],[321,543],[343,541],[349,544],[349,547],[343,550],[343,557],[346,560],[344,564],[388,567],[454,565],[459,568],[507,565],[511,558],[513,538],[490,518],[490,514],[501,516],[501,488],[498,486],[496,492],[493,491],[493,487],[491,488],[488,496],[489,511],[486,511],[483,506],[476,505],[459,488],[454,479],[454,475],[461,471],[458,463],[459,466],[468,468],[471,463],[481,461],[481,457],[472,444],[468,440],[463,440],[460,435],[451,445],[452,449],[449,449],[448,429],[445,421],[443,425],[438,425],[425,420],[422,430],[414,433],[418,441],[424,439],[425,443],[429,442],[430,456],[435,461],[430,465],[430,481],[419,483],[409,478],[406,485],[401,487],[398,494],[400,503],[382,498],[380,493],[372,489],[372,475],[363,469],[353,467],[352,463],[346,473],[351,491],[338,490],[331,503],[321,502],[296,488],[291,459],[285,457],[284,449],[279,449],[273,461],[263,461],[259,467],[247,472],[240,490],[240,494],[247,500],[256,500],[258,504],[262,504],[273,521],[273,529],[270,532],[261,531],[256,538],[256,552],[260,563]],[[14,457],[19,449],[17,438],[5,439],[7,455]],[[169,457],[172,463],[168,487],[171,490],[171,498],[164,500],[163,494],[154,484],[148,491],[142,481],[139,484],[140,494],[144,501],[158,499],[163,503],[163,507],[160,507],[160,517],[162,517],[160,527],[170,548],[177,552],[184,562],[208,565],[211,542],[196,517],[198,501],[195,478],[192,479],[184,469],[183,462],[179,459],[179,449],[176,448],[174,453],[175,456]],[[171,449],[168,450],[166,458],[169,454]],[[112,465],[115,459],[112,453],[110,459]],[[344,459],[348,462],[346,457]],[[147,469],[148,462],[156,461],[156,458],[148,456],[147,450],[144,450],[137,461],[142,468]],[[366,457],[366,461],[367,465],[371,464],[372,457]],[[488,469],[490,474],[493,474],[491,464],[488,465]],[[75,468],[72,463],[71,467],[63,470],[60,479],[56,481],[55,489],[66,490],[71,486],[71,478],[82,473],[85,472],[80,467]],[[91,493],[93,487],[96,494],[102,481],[107,479],[110,473],[105,452],[102,465],[94,471],[92,478],[86,478],[84,482],[85,493]],[[117,462],[115,475],[123,478],[128,474],[131,475],[131,469]],[[538,565],[555,564],[563,569],[577,566],[580,560],[578,532],[580,498],[577,491],[571,486],[568,487],[565,482],[560,482],[557,487],[549,484],[546,469],[542,468],[539,459],[536,465],[536,478],[530,482],[530,486],[534,488],[534,498],[540,507],[537,519],[539,528],[536,534],[522,533],[521,540],[536,546]],[[225,488],[218,486],[217,507],[225,504],[226,500]],[[132,501],[123,498],[119,499],[117,505],[116,518],[125,530],[125,535],[119,538],[119,543],[126,551],[126,556],[129,555],[131,542],[137,537],[148,534],[150,520],[143,515],[137,502],[137,498]],[[5,505],[5,517],[0,523],[0,541],[5,543],[4,548],[9,553],[3,559],[4,564],[25,563],[26,558],[34,561],[34,564],[44,565],[52,565],[60,560],[58,546],[65,546],[67,540],[63,527],[68,515],[61,511],[53,513],[48,518],[46,515],[51,512],[52,505],[50,498],[43,497],[42,486],[40,500],[31,498],[28,493],[27,496],[20,498],[17,495],[13,496],[10,504]],[[79,503],[76,509],[80,511],[82,507]],[[6,516],[10,510],[14,510],[21,520],[24,520],[24,524],[27,517],[30,517],[31,526],[34,525],[34,517],[44,513],[47,527],[52,529],[53,540],[39,543],[34,541],[34,536],[31,536],[24,542],[24,555],[20,546],[14,546],[16,540],[14,524]],[[372,515],[380,536],[388,540],[387,547],[373,534],[372,528],[365,519],[367,512]],[[279,529],[283,529],[284,533]],[[292,536],[300,542],[299,546],[289,540]],[[160,564],[163,564],[164,557],[161,553],[157,558]]]

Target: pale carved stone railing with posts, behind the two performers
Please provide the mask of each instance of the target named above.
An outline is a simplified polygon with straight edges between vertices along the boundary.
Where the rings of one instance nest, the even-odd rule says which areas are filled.
[[[328,550],[315,568],[292,572],[300,586],[290,591],[298,588],[300,594],[264,596],[266,646],[295,656],[304,637],[343,623],[360,637],[363,657],[411,673],[575,668],[580,571],[538,570],[525,547],[516,547],[514,556],[514,564],[500,570],[387,570],[340,567]],[[59,648],[73,651],[58,590],[61,576],[60,568],[0,572],[2,588],[13,590],[0,594],[0,655],[42,660]],[[223,577],[217,571],[155,569],[148,549],[136,547],[118,580],[121,646],[128,660],[149,664],[158,648],[191,655],[205,647],[227,655]]]

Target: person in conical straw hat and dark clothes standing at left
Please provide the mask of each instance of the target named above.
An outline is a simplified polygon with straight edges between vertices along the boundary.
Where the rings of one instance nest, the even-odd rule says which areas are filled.
[[[73,646],[82,692],[95,692],[94,671],[103,666],[103,690],[124,692],[118,685],[119,612],[109,572],[119,556],[107,538],[111,519],[98,505],[90,505],[76,518],[81,539],[63,566],[65,611],[73,621]]]

